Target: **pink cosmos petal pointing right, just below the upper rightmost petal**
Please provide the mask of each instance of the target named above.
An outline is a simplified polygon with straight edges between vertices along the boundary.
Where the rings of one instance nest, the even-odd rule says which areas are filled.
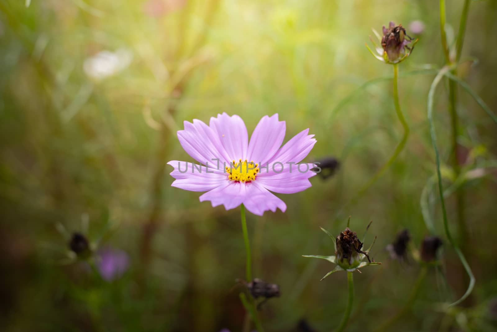
[[[260,173],[255,181],[267,190],[281,194],[298,193],[312,186],[309,178],[316,175],[315,172],[311,171],[313,164],[302,163],[292,165],[292,167],[285,166],[281,173],[272,170],[269,173]]]

